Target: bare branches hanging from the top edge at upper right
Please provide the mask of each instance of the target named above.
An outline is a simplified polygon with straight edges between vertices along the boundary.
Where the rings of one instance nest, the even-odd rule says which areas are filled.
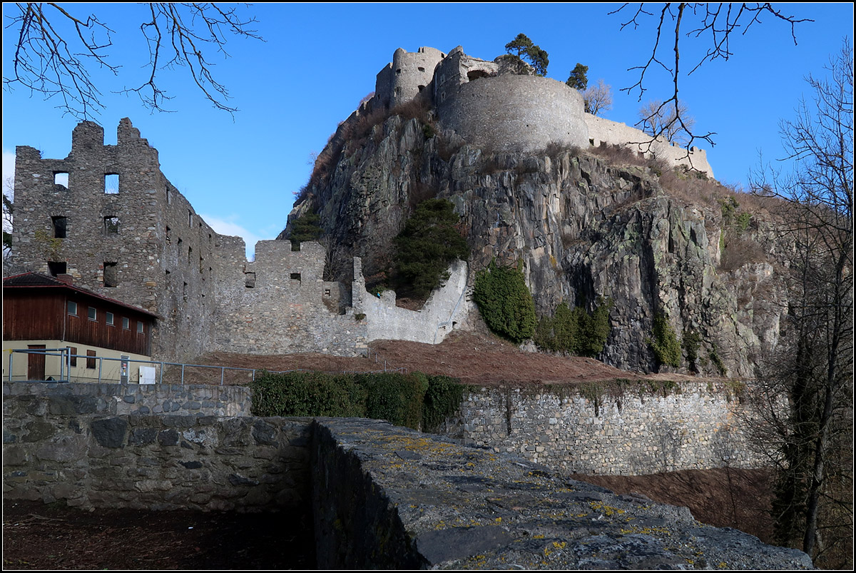
[[[633,12],[629,20],[621,24],[621,30],[626,27],[647,27],[646,19],[651,17],[656,22],[656,38],[654,45],[651,48],[651,56],[647,62],[639,66],[633,66],[631,70],[639,70],[639,81],[630,87],[622,87],[622,92],[628,94],[639,93],[639,101],[642,101],[642,96],[647,91],[645,87],[645,75],[651,69],[660,68],[665,70],[673,85],[671,96],[667,98],[663,105],[671,102],[673,105],[678,105],[675,123],[682,131],[687,134],[687,146],[692,145],[693,140],[706,140],[710,145],[713,145],[713,140],[710,139],[713,132],[706,134],[694,134],[693,126],[688,125],[679,105],[680,95],[680,79],[681,79],[681,39],[703,39],[709,42],[708,49],[704,56],[700,57],[698,62],[691,62],[693,66],[689,74],[693,74],[701,65],[717,58],[728,60],[732,53],[730,51],[729,39],[732,33],[747,33],[750,28],[756,23],[760,25],[761,17],[771,15],[774,18],[788,23],[791,27],[791,37],[796,44],[795,26],[800,22],[811,21],[808,18],[797,18],[793,15],[782,14],[782,10],[776,9],[770,3],[712,3],[712,4],[696,4],[696,3],[664,3],[660,5],[659,14],[645,10],[645,4],[640,3],[636,6],[635,11],[630,7],[630,4],[623,4],[621,8],[615,9],[609,14],[618,14]],[[683,26],[683,28],[681,27]],[[688,29],[688,31],[687,31]],[[669,53],[672,52],[672,53]],[[665,53],[664,53],[665,52]],[[687,75],[689,75],[687,74]],[[655,135],[659,135],[657,133]]]

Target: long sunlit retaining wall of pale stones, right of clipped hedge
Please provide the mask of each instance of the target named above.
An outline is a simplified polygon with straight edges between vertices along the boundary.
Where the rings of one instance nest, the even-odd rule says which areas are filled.
[[[445,434],[580,474],[640,475],[681,469],[758,468],[742,410],[721,384],[629,389],[597,402],[571,390],[473,390]]]

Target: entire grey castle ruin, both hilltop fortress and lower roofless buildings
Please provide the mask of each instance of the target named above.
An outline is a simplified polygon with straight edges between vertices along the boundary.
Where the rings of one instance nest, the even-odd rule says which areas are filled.
[[[398,49],[354,116],[421,95],[444,128],[473,144],[530,152],[551,142],[637,146],[712,176],[702,150],[651,142],[638,129],[586,114],[580,93],[561,82],[502,72],[502,63],[468,57],[460,46],[449,54]],[[15,265],[68,275],[163,317],[152,331],[158,359],[212,351],[359,355],[377,338],[439,343],[472,307],[466,265],[453,268],[421,311],[407,311],[395,307],[393,292],[366,293],[359,259],[351,284],[324,281],[318,243],[295,251],[287,241],[262,241],[254,261],[244,249],[240,237],[220,235],[199,217],[128,118],[115,146],[104,145],[98,124],[80,122],[67,158],[16,148]]]

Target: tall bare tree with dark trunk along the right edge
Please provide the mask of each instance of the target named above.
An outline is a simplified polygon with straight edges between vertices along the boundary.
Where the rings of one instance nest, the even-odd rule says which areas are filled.
[[[841,540],[852,549],[853,541],[853,50],[847,40],[828,69],[828,78],[807,78],[813,101],[801,102],[796,118],[782,122],[794,172],[766,169],[752,177],[758,193],[786,201],[782,235],[793,246],[785,331],[759,377],[757,397],[773,430],[767,438],[778,469],[776,532],[782,542],[801,537],[816,559]],[[782,413],[776,403],[788,408]]]

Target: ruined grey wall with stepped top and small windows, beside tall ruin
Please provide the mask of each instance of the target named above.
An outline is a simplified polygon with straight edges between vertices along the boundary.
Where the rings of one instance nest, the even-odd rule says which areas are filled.
[[[211,349],[282,354],[362,355],[366,323],[354,309],[340,313],[339,284],[325,282],[324,248],[303,242],[259,241],[246,272],[217,278],[217,319]]]

